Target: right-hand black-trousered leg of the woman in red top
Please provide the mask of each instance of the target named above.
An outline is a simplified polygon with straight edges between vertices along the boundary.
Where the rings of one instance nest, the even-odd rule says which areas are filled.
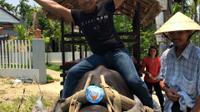
[[[162,94],[162,90],[160,88],[160,84],[159,82],[155,83],[154,84],[154,90],[156,91],[156,95],[158,97],[158,100],[159,100],[159,103],[160,103],[160,106],[161,106],[161,109],[163,110],[163,103],[164,103],[164,96]]]

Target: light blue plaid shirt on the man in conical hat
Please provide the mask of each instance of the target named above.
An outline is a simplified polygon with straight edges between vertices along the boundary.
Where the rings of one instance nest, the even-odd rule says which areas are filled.
[[[194,105],[200,95],[200,49],[190,43],[179,57],[174,47],[167,49],[161,56],[160,78],[186,93],[192,99],[190,105]]]

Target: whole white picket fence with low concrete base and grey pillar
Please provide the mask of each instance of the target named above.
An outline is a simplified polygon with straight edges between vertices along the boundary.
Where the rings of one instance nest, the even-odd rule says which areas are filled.
[[[45,45],[42,39],[0,41],[0,76],[46,82]]]

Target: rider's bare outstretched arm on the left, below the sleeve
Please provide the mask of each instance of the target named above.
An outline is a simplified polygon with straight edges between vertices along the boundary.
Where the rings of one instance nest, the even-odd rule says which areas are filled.
[[[73,22],[73,18],[71,15],[71,10],[63,7],[53,0],[35,0],[38,4],[40,4],[47,12],[50,12],[52,15],[55,15],[59,18],[63,18],[65,22],[71,23]]]

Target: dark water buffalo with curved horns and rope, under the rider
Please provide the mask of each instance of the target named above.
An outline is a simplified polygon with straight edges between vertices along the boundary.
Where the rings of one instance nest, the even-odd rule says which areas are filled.
[[[85,98],[85,88],[89,85],[102,87],[104,99],[98,104],[91,104]],[[153,112],[145,107],[136,97],[120,74],[114,70],[99,66],[87,72],[77,84],[73,95],[59,100],[53,112]]]

